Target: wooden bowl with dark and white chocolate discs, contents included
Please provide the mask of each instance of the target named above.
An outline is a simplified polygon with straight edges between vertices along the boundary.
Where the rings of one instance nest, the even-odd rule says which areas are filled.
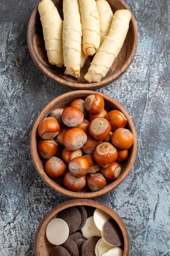
[[[95,200],[59,204],[41,221],[35,256],[128,256],[129,235],[120,216]]]

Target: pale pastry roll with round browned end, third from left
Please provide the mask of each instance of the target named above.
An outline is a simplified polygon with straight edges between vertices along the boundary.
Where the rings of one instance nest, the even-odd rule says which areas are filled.
[[[100,21],[95,0],[79,0],[82,44],[86,56],[93,56],[100,46]]]

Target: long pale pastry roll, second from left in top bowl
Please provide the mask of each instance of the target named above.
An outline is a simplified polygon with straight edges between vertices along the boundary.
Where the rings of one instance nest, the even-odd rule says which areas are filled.
[[[78,0],[63,0],[63,56],[65,74],[80,77],[82,25]]]

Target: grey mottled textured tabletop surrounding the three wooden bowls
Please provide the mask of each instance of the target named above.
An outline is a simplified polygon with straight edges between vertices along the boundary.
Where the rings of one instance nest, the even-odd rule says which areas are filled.
[[[68,200],[46,186],[30,156],[33,123],[52,99],[68,90],[33,64],[26,28],[36,0],[0,1],[0,256],[33,256],[44,215]],[[128,71],[99,91],[128,111],[138,138],[126,180],[97,200],[123,218],[130,256],[170,256],[170,0],[128,0],[139,30]]]

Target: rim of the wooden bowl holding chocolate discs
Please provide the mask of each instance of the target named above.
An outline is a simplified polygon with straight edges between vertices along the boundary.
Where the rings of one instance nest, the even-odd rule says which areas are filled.
[[[124,254],[123,256],[128,256],[129,255],[129,250],[130,250],[130,240],[129,240],[129,234],[128,230],[126,228],[126,225],[124,221],[121,219],[118,213],[116,213],[112,208],[108,207],[106,204],[96,201],[96,200],[90,200],[90,199],[73,199],[69,200],[66,202],[63,202],[61,204],[58,204],[56,207],[51,209],[44,218],[41,220],[38,229],[35,233],[35,240],[34,240],[34,253],[35,256],[42,256],[40,254],[40,237],[42,232],[46,230],[46,226],[49,223],[49,221],[55,217],[55,215],[59,212],[62,211],[66,208],[73,207],[73,206],[78,206],[78,205],[84,205],[84,206],[91,206],[95,208],[99,208],[106,213],[108,213],[119,225],[121,229],[121,233],[124,238]]]

